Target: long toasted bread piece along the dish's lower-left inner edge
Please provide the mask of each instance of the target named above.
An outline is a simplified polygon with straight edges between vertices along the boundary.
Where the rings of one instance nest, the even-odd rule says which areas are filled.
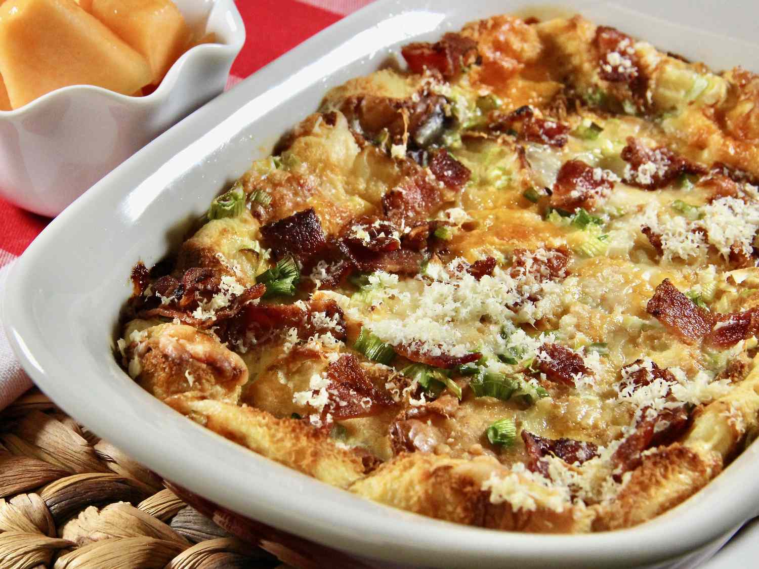
[[[326,431],[301,420],[277,419],[254,407],[187,395],[166,403],[251,451],[333,486],[349,486],[375,463],[366,453],[339,447]]]

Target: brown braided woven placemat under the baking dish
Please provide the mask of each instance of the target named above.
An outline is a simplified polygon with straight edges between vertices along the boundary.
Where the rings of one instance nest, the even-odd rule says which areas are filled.
[[[287,569],[40,391],[0,413],[0,569]]]

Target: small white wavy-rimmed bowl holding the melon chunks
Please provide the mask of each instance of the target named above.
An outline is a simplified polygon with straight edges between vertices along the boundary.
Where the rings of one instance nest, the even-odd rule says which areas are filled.
[[[0,196],[58,215],[96,181],[224,90],[245,41],[234,0],[173,0],[187,24],[218,43],[185,52],[150,95],[62,87],[0,112]]]

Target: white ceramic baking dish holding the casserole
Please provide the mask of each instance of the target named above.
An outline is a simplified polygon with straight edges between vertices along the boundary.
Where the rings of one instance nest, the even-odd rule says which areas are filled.
[[[713,553],[759,513],[756,444],[697,495],[630,530],[581,536],[481,530],[386,508],[268,461],[181,417],[137,387],[112,357],[131,266],[140,259],[150,265],[175,246],[209,200],[317,108],[329,87],[372,71],[412,38],[432,39],[527,4],[377,2],[137,152],[55,219],[11,273],[5,325],[24,368],[67,413],[165,478],[269,526],[372,558],[372,566],[673,569]],[[577,1],[564,8],[716,68],[759,62],[759,47],[714,31],[735,24],[748,37],[745,23],[759,15],[753,4],[638,0],[633,10]],[[699,31],[706,26],[712,31]]]

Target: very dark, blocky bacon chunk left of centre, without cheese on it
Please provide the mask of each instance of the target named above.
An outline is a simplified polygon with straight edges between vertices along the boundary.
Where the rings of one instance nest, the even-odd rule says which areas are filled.
[[[290,253],[305,261],[326,247],[322,224],[313,207],[263,225],[261,235],[277,257]]]

